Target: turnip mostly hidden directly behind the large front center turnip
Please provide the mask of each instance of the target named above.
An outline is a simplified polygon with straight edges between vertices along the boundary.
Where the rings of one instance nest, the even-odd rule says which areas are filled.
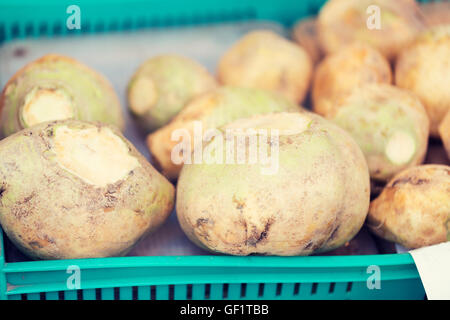
[[[217,128],[239,118],[275,111],[300,111],[302,108],[283,96],[259,89],[221,87],[191,102],[166,126],[150,134],[147,144],[156,166],[169,179],[176,179],[182,164],[172,160],[175,146],[181,142],[175,133],[187,130],[194,146],[194,123],[203,130]]]

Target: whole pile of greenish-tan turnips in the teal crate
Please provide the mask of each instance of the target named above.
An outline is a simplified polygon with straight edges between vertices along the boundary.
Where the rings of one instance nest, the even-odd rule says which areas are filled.
[[[31,62],[0,97],[1,226],[34,259],[125,255],[174,208],[193,243],[230,255],[328,252],[364,224],[406,248],[448,241],[450,166],[424,164],[430,137],[450,159],[448,16],[329,0],[293,40],[243,36],[217,76],[149,57],[127,106],[153,165],[122,135],[105,77],[56,54]]]

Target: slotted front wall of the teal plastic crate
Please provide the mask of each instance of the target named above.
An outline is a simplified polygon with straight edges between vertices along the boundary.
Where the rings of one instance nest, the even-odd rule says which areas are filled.
[[[159,256],[5,263],[2,244],[0,259],[1,298],[11,300],[425,297],[409,254]],[[379,268],[379,289],[367,285],[373,283],[373,265]],[[73,277],[78,271],[76,282]]]

